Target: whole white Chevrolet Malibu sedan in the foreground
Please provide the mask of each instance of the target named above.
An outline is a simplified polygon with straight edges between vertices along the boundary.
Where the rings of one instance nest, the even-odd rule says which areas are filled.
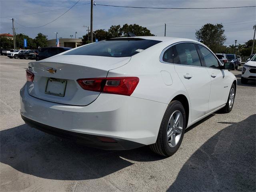
[[[186,128],[217,110],[232,110],[232,68],[195,40],[104,40],[29,63],[20,113],[31,127],[88,146],[149,145],[171,156]]]

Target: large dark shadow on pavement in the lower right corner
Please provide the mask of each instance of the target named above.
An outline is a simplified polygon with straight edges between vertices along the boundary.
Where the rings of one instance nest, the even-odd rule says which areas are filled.
[[[221,130],[184,164],[168,191],[255,191],[256,115]]]

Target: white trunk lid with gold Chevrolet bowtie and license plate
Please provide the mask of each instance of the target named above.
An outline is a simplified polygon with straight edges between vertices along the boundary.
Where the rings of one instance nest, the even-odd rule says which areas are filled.
[[[84,90],[76,80],[106,77],[109,70],[129,60],[130,57],[57,55],[31,62],[28,69],[34,73],[34,81],[28,82],[28,93],[50,102],[86,106],[96,100],[100,92]]]

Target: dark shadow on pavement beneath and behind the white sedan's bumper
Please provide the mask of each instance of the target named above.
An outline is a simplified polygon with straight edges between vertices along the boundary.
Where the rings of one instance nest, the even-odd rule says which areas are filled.
[[[0,162],[20,172],[53,180],[101,178],[132,165],[128,160],[163,159],[148,147],[129,151],[89,148],[26,124],[1,131],[0,141]]]

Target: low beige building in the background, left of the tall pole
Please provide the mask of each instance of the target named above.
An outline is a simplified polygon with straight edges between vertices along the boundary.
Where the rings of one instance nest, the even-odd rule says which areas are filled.
[[[82,39],[60,38],[60,47],[76,48],[82,45]],[[47,42],[48,47],[56,47],[56,39],[50,39]]]

